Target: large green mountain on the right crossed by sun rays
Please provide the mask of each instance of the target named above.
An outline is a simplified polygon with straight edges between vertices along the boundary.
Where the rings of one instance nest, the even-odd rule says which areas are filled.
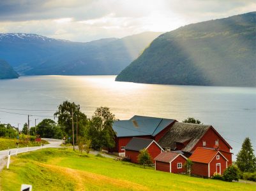
[[[251,12],[166,32],[116,81],[255,87],[255,23]]]

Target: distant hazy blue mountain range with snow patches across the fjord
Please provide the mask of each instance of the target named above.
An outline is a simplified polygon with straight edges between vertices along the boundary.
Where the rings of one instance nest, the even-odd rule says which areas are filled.
[[[161,32],[79,43],[37,34],[0,34],[0,57],[20,74],[118,74]]]

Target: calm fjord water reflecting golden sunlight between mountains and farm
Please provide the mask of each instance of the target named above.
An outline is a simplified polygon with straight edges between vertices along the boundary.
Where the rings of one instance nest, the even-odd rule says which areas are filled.
[[[21,129],[27,122],[27,114],[38,115],[30,117],[34,126],[35,118],[37,123],[43,118],[54,119],[57,106],[68,100],[80,104],[88,117],[100,106],[109,107],[120,120],[133,115],[172,118],[180,122],[195,117],[213,125],[229,141],[235,154],[246,136],[256,150],[256,88],[149,85],[118,82],[115,78],[22,76],[0,80],[0,121],[15,127],[21,124]]]

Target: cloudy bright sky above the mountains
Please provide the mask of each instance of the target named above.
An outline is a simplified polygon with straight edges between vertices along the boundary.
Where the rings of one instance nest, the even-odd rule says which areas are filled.
[[[86,42],[167,32],[250,11],[256,11],[255,0],[0,0],[0,33]]]

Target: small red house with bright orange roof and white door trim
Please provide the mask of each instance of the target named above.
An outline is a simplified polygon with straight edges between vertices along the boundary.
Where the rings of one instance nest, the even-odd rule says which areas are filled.
[[[198,147],[189,159],[193,162],[191,174],[204,177],[211,177],[214,173],[223,174],[229,162],[217,148]]]

